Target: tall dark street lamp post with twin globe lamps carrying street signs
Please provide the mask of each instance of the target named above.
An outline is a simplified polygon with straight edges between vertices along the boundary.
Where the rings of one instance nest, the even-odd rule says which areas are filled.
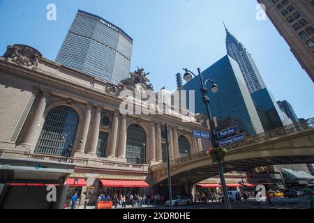
[[[211,144],[212,144],[213,148],[218,148],[219,144],[218,144],[218,139],[217,139],[217,135],[216,135],[215,125],[214,125],[213,118],[211,117],[211,112],[209,109],[209,97],[207,96],[206,84],[207,84],[207,82],[211,82],[211,92],[213,92],[213,93],[217,93],[218,85],[212,79],[207,79],[206,81],[204,81],[204,79],[202,77],[202,72],[200,71],[200,68],[197,68],[199,78],[197,78],[197,76],[188,69],[184,69],[184,71],[185,71],[184,80],[186,82],[189,82],[190,79],[192,79],[192,75],[193,75],[196,78],[198,84],[200,84],[200,91],[202,92],[202,100],[203,100],[205,107],[206,107],[206,112],[207,112],[207,116],[209,119],[209,125],[211,128]],[[217,158],[217,166],[218,166],[221,186],[223,187],[223,197],[224,197],[224,201],[225,201],[225,208],[231,209],[230,200],[229,200],[229,197],[227,194],[227,186],[225,184],[225,177],[223,176],[223,164],[221,161],[222,160],[220,159],[220,157],[218,157]]]

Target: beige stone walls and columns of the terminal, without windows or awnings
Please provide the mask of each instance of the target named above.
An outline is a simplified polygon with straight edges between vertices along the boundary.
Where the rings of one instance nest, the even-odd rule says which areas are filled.
[[[135,74],[131,76],[137,77]],[[146,86],[152,89],[150,84]],[[101,178],[147,180],[149,183],[149,165],[163,160],[165,123],[169,126],[172,159],[179,157],[178,137],[181,135],[188,139],[190,153],[202,151],[204,142],[192,136],[192,130],[206,131],[202,125],[196,121],[182,122],[180,116],[171,114],[120,114],[119,105],[124,98],[119,96],[119,91],[121,86],[45,59],[32,47],[8,46],[6,54],[0,57],[0,155],[22,157],[30,162],[35,158],[51,161],[65,158],[36,153],[45,120],[50,111],[59,106],[73,109],[79,120],[68,157],[76,165],[75,172],[68,177],[84,178],[87,186],[98,185]],[[109,118],[109,125],[103,124],[103,116]],[[140,125],[146,135],[143,164],[128,163],[126,159],[127,132],[133,124]],[[106,154],[102,157],[97,155],[100,131],[108,136]],[[83,187],[82,192],[86,189]],[[97,190],[94,194],[97,195]]]

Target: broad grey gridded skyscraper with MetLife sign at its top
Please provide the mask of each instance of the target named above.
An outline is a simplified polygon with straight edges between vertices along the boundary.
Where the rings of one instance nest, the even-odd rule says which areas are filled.
[[[133,39],[118,26],[78,10],[56,61],[118,84],[129,77],[132,47]]]

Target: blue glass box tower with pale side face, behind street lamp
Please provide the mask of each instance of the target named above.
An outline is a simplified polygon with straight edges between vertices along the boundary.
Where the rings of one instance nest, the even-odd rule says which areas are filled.
[[[204,79],[214,79],[219,86],[218,93],[211,93],[211,86],[207,86],[211,115],[216,116],[217,130],[237,125],[241,132],[246,132],[248,135],[264,132],[236,61],[230,56],[224,56],[204,70],[202,75]],[[200,86],[195,78],[182,86],[180,90],[195,90],[195,113],[206,114],[204,102],[201,100]]]

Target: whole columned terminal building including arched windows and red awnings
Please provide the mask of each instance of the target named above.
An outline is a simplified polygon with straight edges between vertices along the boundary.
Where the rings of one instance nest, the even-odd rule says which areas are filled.
[[[192,135],[206,131],[196,119],[120,113],[123,89],[152,89],[142,72],[116,86],[27,45],[8,45],[0,57],[0,206],[19,207],[18,195],[37,199],[29,208],[60,208],[71,188],[80,203],[95,202],[101,192],[156,193],[149,167],[167,159],[165,123],[171,160],[208,146]],[[57,185],[59,202],[47,204],[46,185]]]

